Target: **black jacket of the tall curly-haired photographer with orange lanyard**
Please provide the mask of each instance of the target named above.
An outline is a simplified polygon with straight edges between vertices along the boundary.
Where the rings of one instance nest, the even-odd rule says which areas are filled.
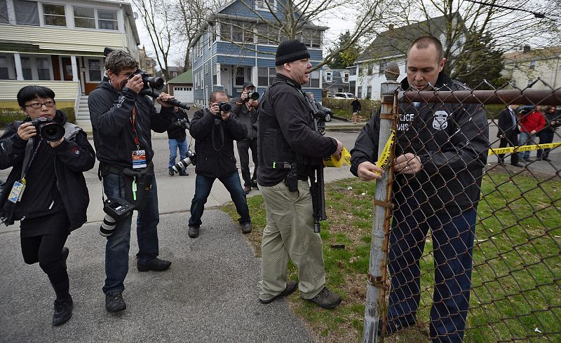
[[[133,166],[132,152],[138,150],[131,121],[133,109],[140,149],[146,151],[147,164],[154,156],[150,130],[165,132],[175,118],[173,107],[162,106],[158,114],[147,95],[128,87],[116,90],[107,80],[90,93],[88,107],[97,160],[121,169]]]

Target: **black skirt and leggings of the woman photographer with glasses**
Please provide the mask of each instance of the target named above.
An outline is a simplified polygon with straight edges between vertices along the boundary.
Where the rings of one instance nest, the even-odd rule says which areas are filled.
[[[66,213],[63,213],[66,216]],[[65,265],[61,260],[61,252],[68,237],[66,232],[69,226],[68,218],[56,218],[55,221],[45,221],[44,217],[26,219],[20,225],[22,230],[25,230],[27,225],[40,225],[41,221],[37,221],[37,219],[42,219],[43,225],[62,225],[62,230],[55,232],[54,235],[21,237],[23,260],[28,265],[39,262],[39,267],[47,274],[55,289],[57,300],[67,299],[70,297],[70,282]]]

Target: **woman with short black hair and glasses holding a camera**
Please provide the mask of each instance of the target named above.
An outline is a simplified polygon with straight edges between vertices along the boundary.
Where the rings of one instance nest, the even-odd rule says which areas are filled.
[[[53,285],[56,326],[72,316],[65,242],[86,223],[89,196],[82,172],[93,168],[95,153],[86,132],[57,111],[54,98],[53,90],[39,85],[18,92],[27,118],[9,124],[0,137],[0,169],[12,167],[0,197],[0,216],[6,225],[20,221],[23,260],[39,262]],[[46,126],[39,134],[38,127]],[[64,136],[54,140],[57,133]]]

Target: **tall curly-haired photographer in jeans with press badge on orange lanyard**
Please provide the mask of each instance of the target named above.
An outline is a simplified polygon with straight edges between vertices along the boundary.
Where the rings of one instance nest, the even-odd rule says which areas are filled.
[[[104,193],[109,200],[124,198],[138,211],[137,269],[161,271],[168,269],[171,262],[158,258],[158,193],[150,130],[168,130],[174,115],[167,101],[173,97],[161,93],[157,98],[162,106],[158,114],[153,100],[139,94],[150,80],[137,73],[137,68],[138,62],[128,52],[109,53],[105,58],[107,80],[90,93],[88,106]],[[126,309],[122,293],[128,273],[132,218],[129,211],[121,219],[112,218],[116,225],[111,232],[100,230],[107,236],[103,292],[105,308],[111,313]]]

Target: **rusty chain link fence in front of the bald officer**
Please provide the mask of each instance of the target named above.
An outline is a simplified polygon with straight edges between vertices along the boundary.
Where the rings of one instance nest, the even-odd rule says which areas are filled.
[[[561,89],[447,87],[395,92],[376,336],[560,342]]]

